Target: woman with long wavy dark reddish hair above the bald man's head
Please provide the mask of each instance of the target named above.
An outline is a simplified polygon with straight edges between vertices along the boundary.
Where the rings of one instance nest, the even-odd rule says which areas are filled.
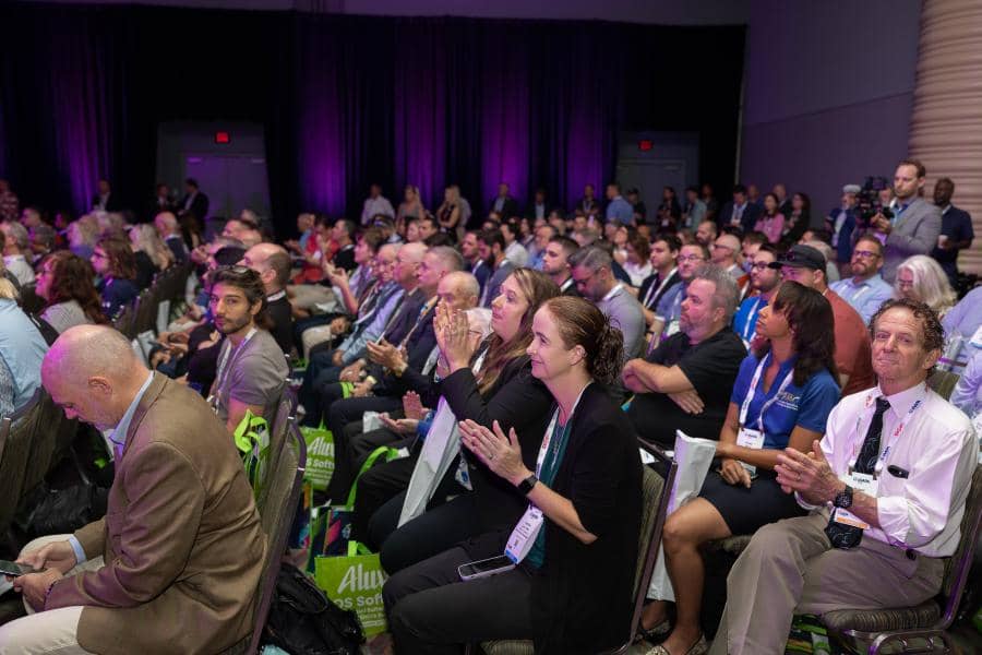
[[[94,278],[92,264],[69,250],[46,257],[37,272],[37,295],[45,299],[40,318],[59,333],[75,325],[108,323]]]

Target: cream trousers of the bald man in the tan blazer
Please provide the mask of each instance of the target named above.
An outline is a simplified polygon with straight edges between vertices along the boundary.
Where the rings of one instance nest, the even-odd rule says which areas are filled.
[[[52,541],[64,541],[68,535],[49,535],[34,539],[21,551],[35,550]],[[103,558],[86,560],[71,571],[69,575],[83,571],[96,571],[103,567]],[[88,655],[89,652],[79,645],[75,634],[82,607],[60,607],[47,611],[35,612],[27,602],[26,617],[0,626],[0,655]]]

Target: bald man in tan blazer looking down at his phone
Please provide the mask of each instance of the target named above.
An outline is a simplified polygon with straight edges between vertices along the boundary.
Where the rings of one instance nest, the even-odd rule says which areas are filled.
[[[46,570],[14,587],[37,612],[0,627],[0,654],[217,653],[247,635],[265,538],[225,426],[109,327],[65,331],[41,379],[70,418],[115,429],[116,479],[105,519],[25,548]]]

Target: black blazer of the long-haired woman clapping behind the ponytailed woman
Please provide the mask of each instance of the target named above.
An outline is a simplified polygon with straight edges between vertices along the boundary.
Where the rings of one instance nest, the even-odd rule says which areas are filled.
[[[440,384],[440,392],[457,420],[469,418],[487,428],[496,420],[505,433],[514,427],[522,443],[522,458],[529,469],[535,471],[553,401],[546,385],[532,377],[527,355],[507,362],[484,395],[478,391],[469,368],[446,377]],[[492,473],[470,451],[462,448],[460,452],[470,471],[479,514],[480,529],[476,534],[493,533],[490,549],[500,555],[528,503],[510,481]]]

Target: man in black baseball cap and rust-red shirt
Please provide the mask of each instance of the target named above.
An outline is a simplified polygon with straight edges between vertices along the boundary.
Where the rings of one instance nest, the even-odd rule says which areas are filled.
[[[833,308],[836,322],[836,366],[839,368],[839,383],[842,397],[876,383],[873,378],[872,350],[866,325],[859,313],[828,288],[825,278],[825,255],[811,246],[792,246],[778,261],[768,264],[780,269],[787,282],[797,282],[812,287],[825,296]]]

